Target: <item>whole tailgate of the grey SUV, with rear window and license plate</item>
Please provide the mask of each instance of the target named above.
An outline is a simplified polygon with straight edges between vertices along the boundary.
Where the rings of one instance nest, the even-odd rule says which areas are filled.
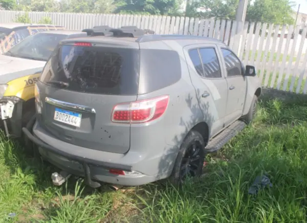
[[[107,46],[65,45],[54,51],[37,84],[38,121],[64,142],[125,153],[130,124],[113,123],[111,116],[115,105],[137,98],[139,49]]]

